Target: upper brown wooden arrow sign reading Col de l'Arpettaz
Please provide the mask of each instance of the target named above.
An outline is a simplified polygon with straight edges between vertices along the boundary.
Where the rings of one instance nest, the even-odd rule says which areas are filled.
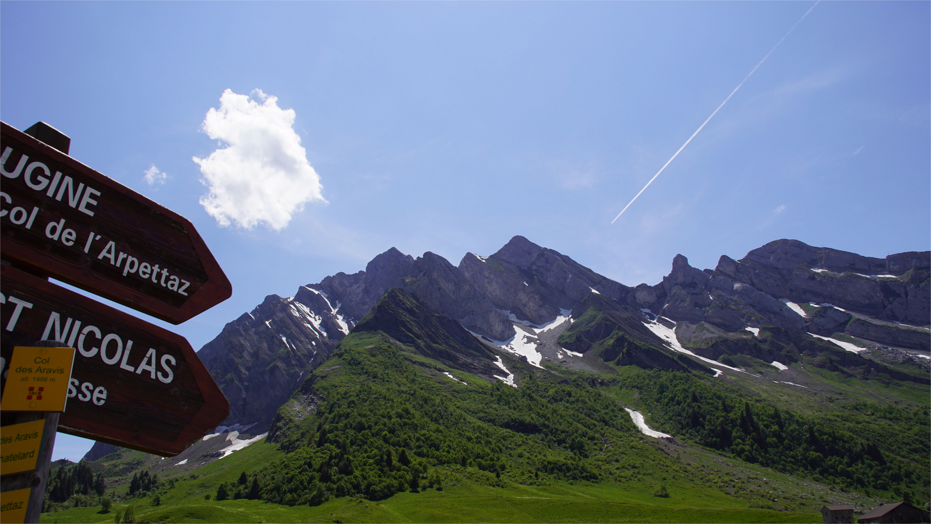
[[[172,324],[233,293],[194,225],[0,122],[3,259]]]

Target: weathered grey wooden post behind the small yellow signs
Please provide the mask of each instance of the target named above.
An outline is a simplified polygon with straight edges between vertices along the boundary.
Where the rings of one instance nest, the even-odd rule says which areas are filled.
[[[39,341],[34,346],[61,347],[62,343],[58,341]],[[52,450],[55,448],[55,434],[58,431],[59,416],[61,416],[61,413],[49,411],[18,411],[3,414],[3,425],[28,423],[40,419],[46,420],[46,426],[42,433],[42,442],[39,444],[38,456],[35,459],[35,469],[0,477],[0,492],[32,489],[29,495],[29,504],[26,505],[24,522],[38,522],[39,514],[42,513],[42,503],[46,497],[48,470],[51,467]]]

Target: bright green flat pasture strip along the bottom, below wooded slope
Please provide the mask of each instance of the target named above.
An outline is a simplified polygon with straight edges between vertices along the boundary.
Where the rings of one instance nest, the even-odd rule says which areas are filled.
[[[611,498],[624,499],[624,502]],[[147,522],[811,522],[814,512],[778,512],[747,507],[694,507],[686,499],[629,502],[620,486],[488,488],[457,486],[443,491],[405,492],[373,503],[355,497],[318,506],[287,506],[263,501],[207,501],[185,497],[149,506],[135,499],[136,518]],[[705,505],[705,504],[702,504]],[[728,504],[734,505],[734,504]],[[99,507],[43,514],[40,522],[114,522]]]

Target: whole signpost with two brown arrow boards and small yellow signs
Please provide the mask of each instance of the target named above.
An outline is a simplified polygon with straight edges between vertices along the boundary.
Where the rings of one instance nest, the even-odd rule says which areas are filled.
[[[229,416],[184,337],[47,281],[180,324],[232,294],[194,226],[27,132],[55,147],[0,122],[2,522],[37,521],[56,430],[174,456]]]

